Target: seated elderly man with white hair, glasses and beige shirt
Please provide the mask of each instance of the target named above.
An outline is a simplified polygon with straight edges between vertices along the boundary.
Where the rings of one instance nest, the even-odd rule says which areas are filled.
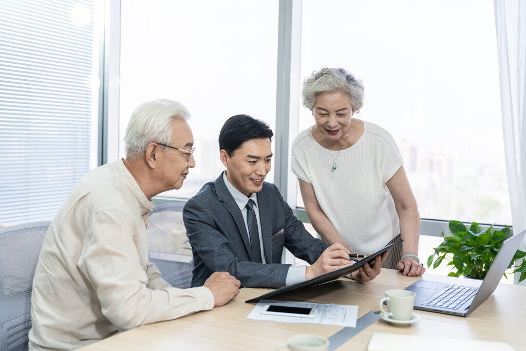
[[[79,348],[239,294],[239,280],[226,272],[178,289],[148,262],[151,198],[179,189],[195,166],[188,117],[175,101],[140,105],[126,130],[126,158],[90,171],[66,198],[38,259],[30,349]]]

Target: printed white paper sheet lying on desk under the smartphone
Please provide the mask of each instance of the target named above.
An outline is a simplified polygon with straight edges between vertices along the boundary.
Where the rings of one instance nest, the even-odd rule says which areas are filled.
[[[290,307],[316,308],[317,313],[313,318],[289,317],[262,314],[265,305],[279,305]],[[260,300],[252,309],[247,319],[272,320],[274,322],[285,323],[311,323],[323,325],[338,325],[342,327],[356,327],[356,318],[358,316],[358,306],[353,305],[331,305],[331,304],[313,304],[308,302],[297,301],[274,301]]]

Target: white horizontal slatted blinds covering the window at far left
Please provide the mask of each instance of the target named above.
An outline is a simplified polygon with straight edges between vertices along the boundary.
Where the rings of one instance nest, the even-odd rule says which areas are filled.
[[[0,0],[0,223],[52,219],[89,171],[94,4]]]

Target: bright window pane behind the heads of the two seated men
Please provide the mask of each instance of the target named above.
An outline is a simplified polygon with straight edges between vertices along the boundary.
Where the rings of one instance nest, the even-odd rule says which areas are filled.
[[[190,198],[218,177],[217,138],[228,117],[249,114],[275,128],[277,32],[278,1],[122,3],[120,156],[138,104],[174,99],[192,115],[196,167],[181,189],[161,196]]]

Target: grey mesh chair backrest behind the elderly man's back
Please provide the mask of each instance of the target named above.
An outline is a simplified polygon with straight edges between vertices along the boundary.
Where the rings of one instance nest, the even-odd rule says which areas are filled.
[[[51,222],[0,228],[0,350],[26,350],[31,289],[38,255]]]

